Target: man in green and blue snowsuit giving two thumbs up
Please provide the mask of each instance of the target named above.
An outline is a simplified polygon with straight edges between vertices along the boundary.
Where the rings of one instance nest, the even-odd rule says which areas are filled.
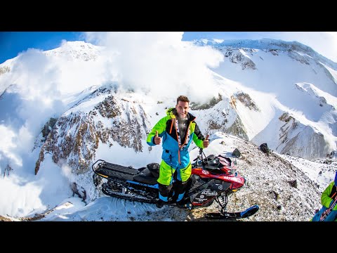
[[[176,108],[169,108],[166,117],[154,125],[152,131],[147,136],[148,145],[159,145],[161,142],[163,153],[159,167],[159,201],[157,207],[169,202],[172,193],[172,201],[176,200],[176,205],[183,206],[183,200],[187,180],[190,179],[192,166],[188,148],[192,141],[199,148],[209,146],[208,138],[201,134],[199,126],[194,122],[194,117],[188,110],[190,100],[186,96],[178,96]],[[176,180],[173,180],[173,174]]]

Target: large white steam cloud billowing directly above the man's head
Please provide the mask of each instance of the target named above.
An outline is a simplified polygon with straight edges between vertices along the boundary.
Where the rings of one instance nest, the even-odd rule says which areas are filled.
[[[87,40],[106,47],[105,69],[122,89],[205,102],[214,95],[207,67],[216,67],[223,55],[181,41],[182,36],[183,32],[88,32]]]

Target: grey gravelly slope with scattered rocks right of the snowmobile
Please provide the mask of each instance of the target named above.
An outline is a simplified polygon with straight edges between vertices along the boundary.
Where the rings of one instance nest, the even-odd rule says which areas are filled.
[[[211,147],[205,149],[206,154],[222,153],[231,157],[234,148],[242,153],[242,157],[232,159],[236,161],[239,173],[246,178],[246,186],[229,196],[228,210],[260,206],[256,215],[243,221],[311,219],[319,207],[320,190],[298,167],[277,153],[267,156],[253,143],[221,132],[211,136],[211,143]]]

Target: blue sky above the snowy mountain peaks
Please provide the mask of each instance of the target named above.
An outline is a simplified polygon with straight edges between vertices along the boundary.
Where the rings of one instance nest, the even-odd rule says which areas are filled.
[[[192,39],[282,39],[299,41],[317,53],[337,62],[337,32],[184,32],[183,40]],[[83,32],[0,32],[0,64],[28,48],[50,50],[67,41],[84,40]]]

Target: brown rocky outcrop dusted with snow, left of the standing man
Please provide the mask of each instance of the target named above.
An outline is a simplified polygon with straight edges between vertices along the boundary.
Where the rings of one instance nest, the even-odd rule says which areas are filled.
[[[118,144],[142,153],[148,131],[141,105],[116,96],[112,86],[100,87],[57,120],[41,148],[35,174],[45,153],[52,153],[55,163],[69,165],[75,174],[90,170],[100,145]]]

